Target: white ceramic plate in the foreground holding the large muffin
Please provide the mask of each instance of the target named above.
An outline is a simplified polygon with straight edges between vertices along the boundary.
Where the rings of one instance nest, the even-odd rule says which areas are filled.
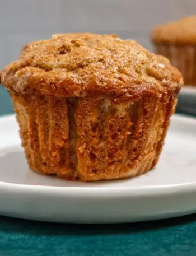
[[[0,118],[0,215],[111,223],[196,212],[196,119],[172,117],[155,170],[133,179],[77,183],[29,170],[15,117]]]

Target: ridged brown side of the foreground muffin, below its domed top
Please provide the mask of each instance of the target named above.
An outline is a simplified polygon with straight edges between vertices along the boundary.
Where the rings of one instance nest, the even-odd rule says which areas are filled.
[[[156,165],[174,96],[119,103],[104,97],[27,97],[11,92],[32,170],[67,180],[133,177]]]

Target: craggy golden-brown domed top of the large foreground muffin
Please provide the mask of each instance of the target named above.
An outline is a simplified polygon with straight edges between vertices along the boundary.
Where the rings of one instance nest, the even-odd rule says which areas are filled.
[[[20,94],[58,97],[141,97],[178,92],[183,83],[169,60],[116,35],[59,34],[34,41],[6,66],[1,81]]]

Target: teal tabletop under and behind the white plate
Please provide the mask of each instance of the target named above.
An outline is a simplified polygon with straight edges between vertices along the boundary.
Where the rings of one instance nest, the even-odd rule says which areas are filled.
[[[0,114],[10,113],[10,97],[0,87]],[[195,256],[195,237],[196,215],[115,225],[52,224],[0,216],[0,256]]]

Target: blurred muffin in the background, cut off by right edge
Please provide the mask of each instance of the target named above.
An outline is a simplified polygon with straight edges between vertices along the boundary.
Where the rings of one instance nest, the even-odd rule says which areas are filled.
[[[157,26],[152,41],[157,54],[168,58],[183,75],[185,85],[196,86],[196,16]]]

